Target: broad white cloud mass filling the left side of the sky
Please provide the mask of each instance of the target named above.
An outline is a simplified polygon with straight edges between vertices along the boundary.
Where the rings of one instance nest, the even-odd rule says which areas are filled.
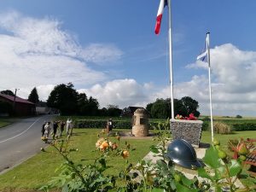
[[[117,61],[122,55],[114,44],[82,47],[61,29],[59,20],[49,17],[36,19],[5,12],[0,14],[0,28],[4,31],[0,34],[0,84],[7,89],[26,91],[38,86],[40,92],[41,87],[68,82],[88,87],[107,80],[108,75],[92,69],[86,61]]]

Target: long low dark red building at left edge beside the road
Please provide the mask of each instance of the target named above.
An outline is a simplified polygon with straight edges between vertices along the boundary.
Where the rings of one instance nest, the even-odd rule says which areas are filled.
[[[0,93],[0,101],[9,102],[14,107],[16,116],[29,116],[36,113],[36,105],[19,96],[9,96]]]

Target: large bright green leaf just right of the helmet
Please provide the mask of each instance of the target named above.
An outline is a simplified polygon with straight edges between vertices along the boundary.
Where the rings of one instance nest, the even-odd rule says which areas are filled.
[[[220,164],[220,159],[218,158],[218,150],[216,148],[208,148],[206,151],[206,155],[203,158],[203,162],[207,164],[207,166],[211,166],[212,168],[218,168]]]

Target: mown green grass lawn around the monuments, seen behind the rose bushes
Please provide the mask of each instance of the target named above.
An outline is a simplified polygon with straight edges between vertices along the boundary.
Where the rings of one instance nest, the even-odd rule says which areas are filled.
[[[72,159],[76,162],[84,159],[84,163],[91,162],[91,159],[96,157],[99,152],[95,144],[97,141],[97,133],[99,129],[75,129],[74,136],[72,137],[71,148],[79,148],[79,152],[72,154]],[[215,135],[221,143],[221,146],[228,151],[227,142],[229,139],[234,138],[247,138],[254,137],[256,131],[238,131],[230,135]],[[111,141],[117,142],[115,137],[109,137]],[[38,138],[39,139],[39,138]],[[152,139],[126,139],[131,144],[131,148],[135,147],[136,150],[131,152],[129,161],[136,164],[146,154],[148,154],[149,146],[155,144]],[[120,140],[120,146],[124,146],[125,139]],[[210,131],[203,131],[201,142],[211,143]],[[9,192],[28,192],[35,191],[44,183],[47,183],[50,177],[55,176],[55,168],[59,167],[63,160],[59,155],[54,154],[53,148],[46,148],[45,152],[40,152],[20,166],[16,166],[13,170],[0,175],[0,191]],[[229,153],[232,154],[231,152]],[[122,157],[115,158],[108,163],[112,166],[106,173],[117,175],[120,170],[125,168],[125,160]]]

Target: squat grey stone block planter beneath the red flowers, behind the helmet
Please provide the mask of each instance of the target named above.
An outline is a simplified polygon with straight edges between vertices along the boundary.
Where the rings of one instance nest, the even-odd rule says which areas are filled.
[[[172,138],[184,139],[194,147],[199,147],[201,140],[201,120],[171,119]]]

